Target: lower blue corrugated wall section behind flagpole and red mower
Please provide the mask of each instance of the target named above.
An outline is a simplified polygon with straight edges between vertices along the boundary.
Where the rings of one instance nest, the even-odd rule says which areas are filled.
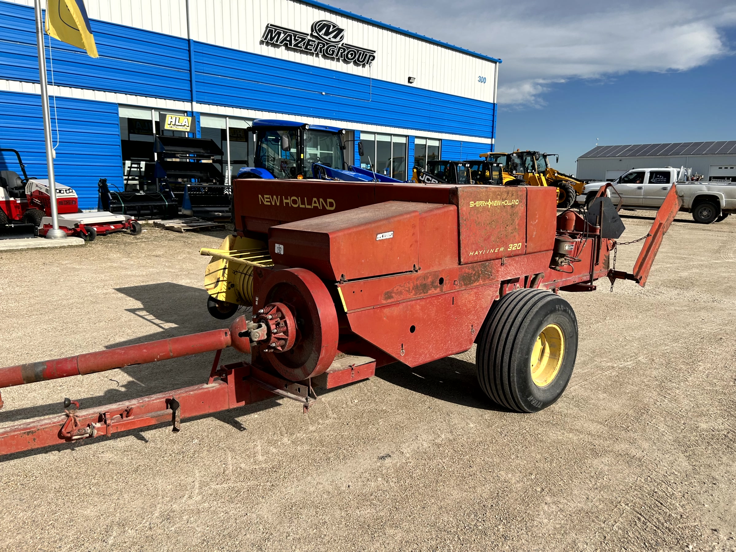
[[[56,144],[53,99],[51,103]],[[57,98],[56,107],[56,180],[77,191],[79,208],[95,209],[100,178],[118,188],[123,184],[118,105]],[[48,177],[40,96],[0,91],[0,147],[21,152],[29,177]],[[0,152],[0,170],[21,174],[15,155],[7,152]]]

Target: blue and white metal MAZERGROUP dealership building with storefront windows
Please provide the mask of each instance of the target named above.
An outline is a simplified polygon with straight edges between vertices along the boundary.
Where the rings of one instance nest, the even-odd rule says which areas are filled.
[[[0,147],[45,177],[32,4],[0,0]],[[189,135],[216,141],[231,174],[252,160],[254,118],[350,130],[352,163],[401,179],[493,149],[495,58],[312,0],[85,4],[99,58],[46,37],[57,180],[84,209],[99,178],[121,187],[146,162],[154,127],[175,134],[171,114],[194,116]]]

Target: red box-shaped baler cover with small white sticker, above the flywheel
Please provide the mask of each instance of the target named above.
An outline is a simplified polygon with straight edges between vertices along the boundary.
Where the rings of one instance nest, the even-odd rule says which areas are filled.
[[[332,213],[269,231],[275,263],[301,266],[325,280],[354,280],[419,266],[419,210],[428,204],[386,202]]]

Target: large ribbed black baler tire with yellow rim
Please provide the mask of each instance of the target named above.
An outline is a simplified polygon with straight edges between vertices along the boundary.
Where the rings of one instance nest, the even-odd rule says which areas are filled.
[[[544,346],[543,330],[545,336],[561,334],[563,339],[556,345],[551,339]],[[539,357],[534,367],[543,369],[533,374],[532,353],[555,350],[561,358],[555,362],[552,354],[545,365]],[[500,406],[517,412],[538,412],[555,403],[565,391],[577,353],[578,322],[570,303],[542,289],[512,291],[495,302],[478,336],[478,383]]]

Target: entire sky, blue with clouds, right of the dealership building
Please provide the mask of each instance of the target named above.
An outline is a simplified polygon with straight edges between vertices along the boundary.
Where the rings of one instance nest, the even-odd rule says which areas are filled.
[[[736,3],[328,0],[500,57],[497,151],[736,139]]]

